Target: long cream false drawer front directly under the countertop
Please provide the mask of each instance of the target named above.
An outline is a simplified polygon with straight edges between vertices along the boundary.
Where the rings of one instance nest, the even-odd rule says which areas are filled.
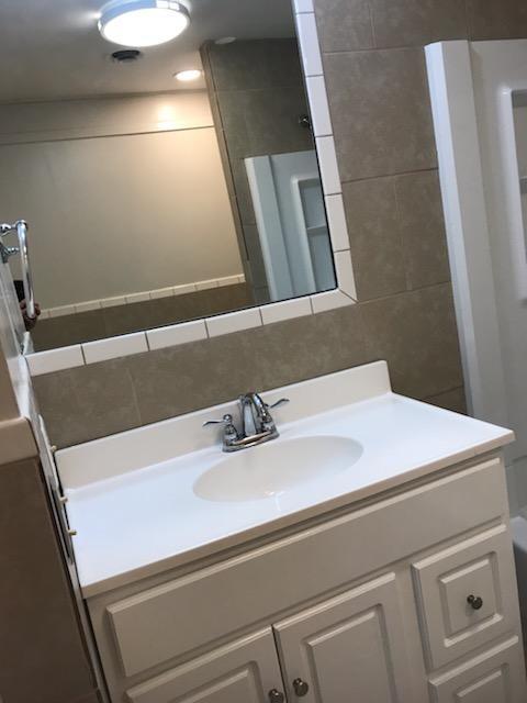
[[[506,511],[496,458],[112,603],[106,617],[123,671],[130,677],[270,623]]]

